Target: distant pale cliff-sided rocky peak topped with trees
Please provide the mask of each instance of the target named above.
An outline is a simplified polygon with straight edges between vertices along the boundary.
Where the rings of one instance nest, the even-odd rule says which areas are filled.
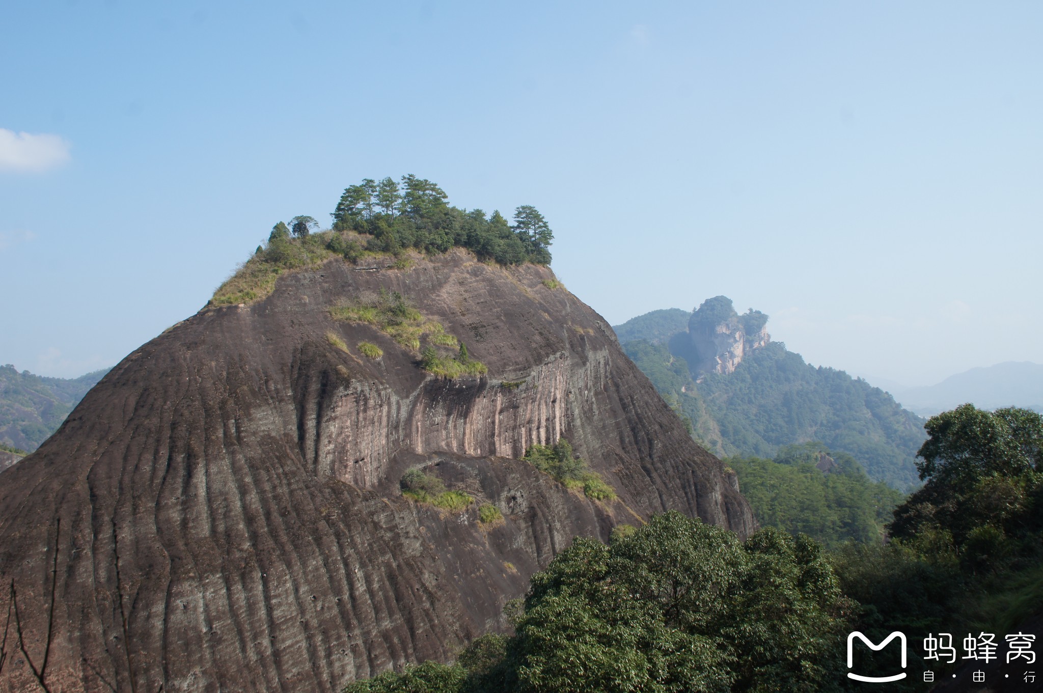
[[[768,316],[760,311],[750,308],[739,315],[727,296],[707,298],[688,320],[688,339],[696,356],[689,366],[699,373],[734,372],[748,351],[771,341],[767,324]]]

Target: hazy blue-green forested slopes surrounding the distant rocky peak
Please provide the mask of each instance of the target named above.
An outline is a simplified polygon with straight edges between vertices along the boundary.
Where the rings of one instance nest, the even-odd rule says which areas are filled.
[[[770,459],[785,445],[821,441],[854,456],[874,480],[900,490],[917,481],[923,420],[891,395],[844,371],[810,366],[781,342],[748,349],[733,373],[693,373],[687,325],[668,336],[681,313],[657,311],[614,329],[633,338],[623,341],[627,355],[709,450]],[[757,329],[767,320],[755,311],[741,318]]]

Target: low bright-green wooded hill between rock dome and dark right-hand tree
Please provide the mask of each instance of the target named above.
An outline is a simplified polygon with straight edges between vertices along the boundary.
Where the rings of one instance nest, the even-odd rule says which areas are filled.
[[[824,464],[823,464],[824,463]],[[790,445],[774,460],[727,457],[760,526],[805,534],[827,548],[881,542],[903,496],[873,481],[846,452],[822,443]],[[822,471],[816,465],[831,466]]]

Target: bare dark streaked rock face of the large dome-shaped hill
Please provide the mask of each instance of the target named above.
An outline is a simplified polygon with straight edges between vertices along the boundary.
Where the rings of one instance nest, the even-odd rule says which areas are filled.
[[[459,250],[410,270],[336,261],[124,358],[0,475],[0,576],[16,580],[38,664],[57,549],[53,690],[130,690],[132,674],[149,693],[335,691],[503,629],[505,601],[574,536],[607,539],[668,509],[752,531],[734,479],[551,277]],[[435,379],[374,328],[330,318],[381,288],[463,339],[488,375]],[[561,436],[617,501],[517,460]],[[418,464],[504,522],[404,498]],[[27,689],[27,669],[8,662],[0,690]]]

